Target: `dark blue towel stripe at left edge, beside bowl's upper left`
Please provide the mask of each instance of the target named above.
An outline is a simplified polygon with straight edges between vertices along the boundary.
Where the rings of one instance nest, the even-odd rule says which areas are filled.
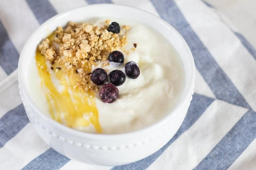
[[[18,67],[19,53],[12,44],[12,41],[10,40],[1,21],[0,38],[0,65],[6,74],[9,75]]]

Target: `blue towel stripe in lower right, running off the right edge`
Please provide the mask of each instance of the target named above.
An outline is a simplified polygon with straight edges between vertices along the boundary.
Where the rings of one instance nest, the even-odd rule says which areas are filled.
[[[249,110],[236,122],[195,170],[228,169],[256,137],[256,112]]]

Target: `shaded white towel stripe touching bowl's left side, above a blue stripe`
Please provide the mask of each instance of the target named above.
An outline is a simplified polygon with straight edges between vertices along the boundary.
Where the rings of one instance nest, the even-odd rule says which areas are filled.
[[[13,73],[17,72],[14,71]],[[15,76],[13,73],[0,83],[0,86],[1,84],[5,84],[7,86],[2,89],[0,88],[0,117],[21,104],[18,81],[13,81],[12,78]]]

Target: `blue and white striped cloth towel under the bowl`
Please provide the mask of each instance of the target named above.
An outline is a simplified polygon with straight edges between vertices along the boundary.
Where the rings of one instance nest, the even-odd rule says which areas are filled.
[[[193,100],[178,132],[156,153],[123,166],[70,160],[36,134],[20,100],[17,65],[29,35],[48,18],[93,3],[149,11],[187,41],[196,65]],[[6,0],[0,5],[0,169],[256,169],[256,51],[200,0]]]

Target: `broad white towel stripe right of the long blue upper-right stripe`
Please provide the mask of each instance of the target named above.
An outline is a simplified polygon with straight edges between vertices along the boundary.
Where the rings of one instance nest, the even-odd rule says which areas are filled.
[[[179,0],[177,5],[216,62],[256,110],[256,60],[219,16],[201,1]]]

